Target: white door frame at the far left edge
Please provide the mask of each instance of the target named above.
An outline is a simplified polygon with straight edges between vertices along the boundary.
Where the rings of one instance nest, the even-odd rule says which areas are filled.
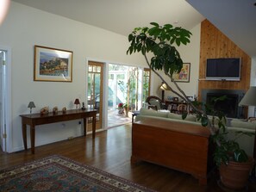
[[[12,152],[11,146],[11,49],[7,46],[0,46],[0,50],[6,51],[6,63],[5,63],[5,79],[4,85],[5,91],[3,91],[3,116],[4,116],[4,124],[5,124],[5,133],[6,133],[6,140],[5,140],[5,148],[6,152]],[[2,67],[2,66],[1,66]],[[3,149],[5,150],[5,149]]]

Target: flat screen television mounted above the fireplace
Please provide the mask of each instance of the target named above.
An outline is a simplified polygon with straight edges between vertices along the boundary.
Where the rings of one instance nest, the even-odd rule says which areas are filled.
[[[205,78],[240,81],[240,58],[207,59]]]

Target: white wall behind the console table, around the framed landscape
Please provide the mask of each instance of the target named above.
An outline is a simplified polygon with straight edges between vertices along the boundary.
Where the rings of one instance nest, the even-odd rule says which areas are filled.
[[[11,152],[23,149],[19,115],[29,113],[28,102],[34,101],[35,113],[45,106],[51,109],[54,106],[75,108],[75,98],[79,97],[80,102],[85,100],[86,58],[145,65],[142,56],[126,54],[128,38],[125,36],[12,1],[9,13],[0,26],[0,34],[0,45],[9,46],[12,57],[11,126],[8,127]],[[34,45],[72,51],[72,83],[34,81]],[[65,122],[65,125],[55,123],[36,128],[35,146],[81,135],[78,121]]]

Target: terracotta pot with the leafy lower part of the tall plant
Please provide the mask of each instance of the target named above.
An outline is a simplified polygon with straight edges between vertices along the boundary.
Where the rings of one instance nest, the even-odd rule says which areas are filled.
[[[236,142],[242,135],[253,136],[253,133],[237,131],[232,139],[228,139],[228,131],[226,128],[226,116],[220,110],[215,110],[214,105],[218,101],[224,101],[226,96],[214,98],[213,105],[209,106],[202,102],[197,102],[198,105],[203,105],[205,114],[211,114],[211,126],[217,127],[216,132],[211,139],[215,143],[214,161],[220,172],[220,181],[222,185],[229,189],[244,189],[247,185],[250,170],[253,168],[254,159],[247,156],[247,153],[240,148]],[[197,119],[202,120],[203,115],[197,114]],[[209,120],[209,118],[208,118]],[[203,126],[209,122],[201,121]]]

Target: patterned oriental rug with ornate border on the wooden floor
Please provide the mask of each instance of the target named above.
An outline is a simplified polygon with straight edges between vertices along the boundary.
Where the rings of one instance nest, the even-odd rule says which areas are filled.
[[[0,170],[0,191],[153,191],[121,177],[50,156],[12,169]]]

